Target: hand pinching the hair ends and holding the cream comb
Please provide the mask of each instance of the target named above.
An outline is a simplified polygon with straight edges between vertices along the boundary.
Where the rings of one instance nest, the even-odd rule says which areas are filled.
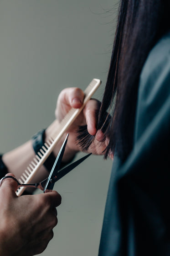
[[[55,111],[56,118],[59,122],[63,117],[73,108],[80,108],[82,106],[84,93],[79,88],[66,88],[62,90],[57,100],[57,107]],[[87,125],[88,133],[95,136],[93,143],[88,148],[89,153],[103,155],[104,150],[108,145],[108,139],[104,136],[101,130],[97,130],[97,115],[100,107],[100,102],[97,100],[90,100],[83,108],[82,112],[67,130],[69,133],[69,140],[67,143],[67,151],[74,150],[75,152],[82,150],[77,144],[77,129],[79,126]]]

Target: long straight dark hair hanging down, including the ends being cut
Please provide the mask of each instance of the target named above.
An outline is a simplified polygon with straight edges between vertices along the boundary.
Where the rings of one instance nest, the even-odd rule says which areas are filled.
[[[105,158],[109,150],[114,153],[116,149],[118,156],[125,160],[133,148],[140,72],[151,48],[170,28],[169,5],[168,0],[120,1],[108,79],[98,113],[97,128],[110,139]],[[106,122],[106,112],[112,109]],[[106,123],[107,126],[103,125]],[[87,149],[93,137],[87,134],[82,139],[82,133],[79,142]]]

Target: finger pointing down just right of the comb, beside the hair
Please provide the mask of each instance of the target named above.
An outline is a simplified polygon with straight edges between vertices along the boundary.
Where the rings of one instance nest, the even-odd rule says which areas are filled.
[[[83,113],[86,118],[88,133],[95,135],[97,132],[97,113],[100,102],[97,100],[90,100],[84,107]]]

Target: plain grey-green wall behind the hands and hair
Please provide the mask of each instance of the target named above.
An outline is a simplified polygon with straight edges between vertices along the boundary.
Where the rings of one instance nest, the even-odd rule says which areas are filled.
[[[52,123],[63,88],[99,78],[101,99],[117,8],[116,0],[0,0],[0,152]],[[111,165],[92,156],[57,182],[58,225],[41,255],[97,256]]]

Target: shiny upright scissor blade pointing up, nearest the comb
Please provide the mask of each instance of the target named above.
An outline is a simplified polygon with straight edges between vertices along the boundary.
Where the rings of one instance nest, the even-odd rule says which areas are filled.
[[[56,182],[56,176],[58,174],[58,170],[60,169],[60,165],[62,162],[62,157],[64,155],[64,151],[66,148],[66,144],[67,144],[67,140],[68,140],[68,135],[69,133],[67,133],[66,139],[64,140],[62,147],[57,155],[57,158],[55,160],[55,163],[52,167],[52,171],[50,172],[50,175],[48,176],[48,180],[46,182],[46,186],[44,189],[44,192],[46,192],[46,190],[48,191],[52,191],[53,187],[54,187],[54,183]]]

